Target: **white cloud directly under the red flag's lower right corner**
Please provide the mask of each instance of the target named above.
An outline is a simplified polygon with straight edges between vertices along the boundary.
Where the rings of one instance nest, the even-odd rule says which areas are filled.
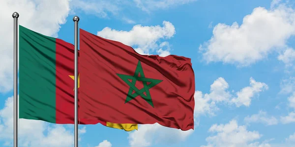
[[[129,133],[128,139],[131,147],[149,147],[152,144],[173,144],[185,141],[193,132],[192,129],[182,131],[154,123],[139,125],[138,130]]]

